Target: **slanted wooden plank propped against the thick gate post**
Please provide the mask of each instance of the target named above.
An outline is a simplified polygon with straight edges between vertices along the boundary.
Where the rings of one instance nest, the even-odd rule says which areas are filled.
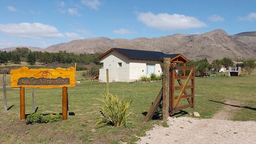
[[[163,90],[163,88],[161,88],[160,92],[158,93],[158,95],[156,97],[156,100],[152,104],[151,108],[148,110],[148,113],[145,116],[143,122],[148,122],[149,120],[151,120],[151,118],[153,117],[154,113],[156,112],[160,102],[162,101],[162,90]]]

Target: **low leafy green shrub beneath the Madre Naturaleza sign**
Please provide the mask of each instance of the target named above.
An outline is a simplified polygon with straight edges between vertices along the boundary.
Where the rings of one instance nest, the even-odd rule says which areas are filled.
[[[42,114],[32,113],[27,116],[26,124],[58,122],[60,120],[62,120],[62,115],[60,114],[48,114],[44,116]]]

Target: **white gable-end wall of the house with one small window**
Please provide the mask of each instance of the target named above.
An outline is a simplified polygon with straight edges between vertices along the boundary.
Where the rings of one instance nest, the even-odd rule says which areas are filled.
[[[109,70],[109,82],[129,82],[130,60],[114,51],[106,54],[100,59],[103,68],[100,69],[100,82],[106,82],[106,69]],[[122,67],[118,67],[118,62],[122,62]]]

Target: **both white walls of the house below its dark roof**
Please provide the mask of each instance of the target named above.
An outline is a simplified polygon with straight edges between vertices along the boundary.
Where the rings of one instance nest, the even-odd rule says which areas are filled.
[[[146,64],[155,64],[155,74],[162,74],[162,62],[157,60],[135,60],[128,59],[117,52],[110,52],[101,58],[103,68],[100,69],[100,82],[106,82],[106,69],[109,70],[109,82],[134,82],[146,74]],[[118,67],[118,62],[122,62],[122,67]]]

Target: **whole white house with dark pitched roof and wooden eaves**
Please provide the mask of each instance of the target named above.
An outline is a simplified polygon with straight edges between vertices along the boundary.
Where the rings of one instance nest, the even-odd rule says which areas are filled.
[[[97,58],[102,63],[99,81],[106,82],[106,69],[109,70],[109,82],[134,82],[151,73],[160,75],[163,58],[188,62],[181,54],[111,48]]]

